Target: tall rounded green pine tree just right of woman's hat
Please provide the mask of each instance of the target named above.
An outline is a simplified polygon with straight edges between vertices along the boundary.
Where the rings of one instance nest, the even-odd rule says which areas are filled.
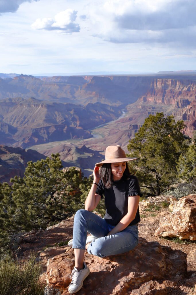
[[[184,127],[184,122],[175,123],[172,115],[149,115],[129,141],[129,156],[138,158],[130,165],[146,196],[158,196],[178,182],[176,164],[189,142],[181,132]]]

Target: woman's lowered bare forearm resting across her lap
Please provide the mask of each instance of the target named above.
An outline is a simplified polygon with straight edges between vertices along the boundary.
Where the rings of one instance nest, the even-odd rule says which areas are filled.
[[[108,235],[114,235],[117,232],[121,232],[124,230],[130,222],[135,218],[135,215],[138,210],[140,196],[129,196],[128,197],[128,212],[127,214],[120,220],[120,222],[110,231]]]

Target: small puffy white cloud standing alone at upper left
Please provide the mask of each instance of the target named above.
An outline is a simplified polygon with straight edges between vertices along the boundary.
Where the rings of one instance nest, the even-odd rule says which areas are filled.
[[[31,27],[36,30],[61,30],[67,33],[80,32],[79,24],[75,23],[76,17],[76,10],[66,9],[56,14],[54,19],[36,19]]]

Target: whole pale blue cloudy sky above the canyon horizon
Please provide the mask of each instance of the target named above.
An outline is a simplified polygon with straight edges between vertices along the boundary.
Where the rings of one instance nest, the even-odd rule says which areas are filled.
[[[1,73],[196,70],[195,0],[1,0]]]

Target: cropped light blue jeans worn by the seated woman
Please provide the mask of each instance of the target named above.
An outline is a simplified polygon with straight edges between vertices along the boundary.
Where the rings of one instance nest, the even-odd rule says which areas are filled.
[[[98,257],[121,254],[132,250],[138,244],[138,226],[131,225],[121,232],[107,236],[115,226],[87,210],[78,210],[73,223],[73,246],[85,249],[87,231],[97,239],[88,247],[88,253]]]

